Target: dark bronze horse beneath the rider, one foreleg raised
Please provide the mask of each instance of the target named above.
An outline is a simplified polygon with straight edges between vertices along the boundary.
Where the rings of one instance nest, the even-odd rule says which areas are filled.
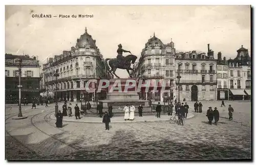
[[[116,58],[107,58],[107,59],[105,59],[105,67],[106,67],[106,70],[112,75],[112,78],[114,78],[114,75],[118,79],[120,78],[115,73],[117,68],[126,69],[127,73],[130,76],[130,78],[133,78],[132,74],[130,74],[130,70],[134,71],[134,69],[131,68],[131,64],[134,64],[136,59],[137,59],[137,56],[135,56],[135,55],[128,55],[128,56],[124,57],[124,61],[125,61],[124,64],[121,64]],[[109,61],[109,65],[108,65],[108,60],[110,60]],[[111,67],[111,69],[110,69],[109,66]]]

